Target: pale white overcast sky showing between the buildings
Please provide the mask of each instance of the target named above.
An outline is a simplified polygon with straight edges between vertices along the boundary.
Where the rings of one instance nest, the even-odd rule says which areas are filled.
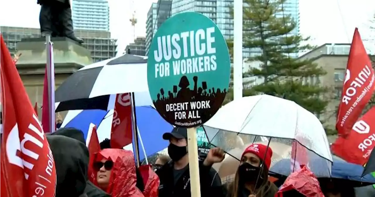
[[[129,22],[133,10],[138,19],[135,34],[145,36],[148,9],[157,0],[108,1],[111,36],[118,39],[118,50],[123,51],[133,40],[133,28]],[[1,9],[1,26],[39,28],[40,6],[36,0],[3,1],[1,7],[9,8]],[[375,31],[369,30],[374,13],[374,0],[300,0],[300,32],[311,36],[314,45],[351,42],[355,27],[359,27],[363,39],[369,39],[371,34],[375,39]],[[368,48],[373,44],[366,42]]]

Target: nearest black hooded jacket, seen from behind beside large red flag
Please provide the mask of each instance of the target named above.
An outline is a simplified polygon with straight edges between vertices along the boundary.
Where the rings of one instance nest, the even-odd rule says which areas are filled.
[[[65,136],[47,136],[47,140],[55,160],[56,197],[80,197],[86,188],[89,150]]]

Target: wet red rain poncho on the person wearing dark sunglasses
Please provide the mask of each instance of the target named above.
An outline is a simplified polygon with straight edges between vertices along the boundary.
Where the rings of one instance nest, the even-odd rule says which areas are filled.
[[[132,151],[123,149],[103,149],[96,154],[96,161],[103,158],[113,161],[113,168],[110,176],[110,184],[107,193],[111,197],[144,197],[141,191],[135,186],[136,173],[135,162]],[[95,177],[96,178],[96,177]],[[96,180],[93,180],[96,183]]]

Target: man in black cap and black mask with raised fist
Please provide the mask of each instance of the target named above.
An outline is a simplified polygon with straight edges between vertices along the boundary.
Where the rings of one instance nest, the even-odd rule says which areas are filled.
[[[159,197],[190,197],[189,156],[187,154],[187,129],[173,128],[164,133],[163,139],[169,140],[168,154],[172,161],[156,170],[159,176]],[[201,196],[220,197],[225,195],[224,187],[217,172],[211,167],[224,159],[224,151],[211,148],[204,161],[199,161]],[[198,158],[196,158],[198,160]]]

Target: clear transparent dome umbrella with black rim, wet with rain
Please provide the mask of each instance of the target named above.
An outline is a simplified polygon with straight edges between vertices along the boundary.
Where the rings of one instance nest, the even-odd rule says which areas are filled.
[[[293,101],[266,94],[243,97],[221,107],[203,128],[208,141],[228,154],[238,148],[240,136],[245,144],[270,145],[274,152],[270,168],[277,161],[290,158],[291,172],[301,164],[311,169],[319,165],[320,177],[331,176],[332,155],[323,125]],[[241,155],[231,156],[240,160]]]

